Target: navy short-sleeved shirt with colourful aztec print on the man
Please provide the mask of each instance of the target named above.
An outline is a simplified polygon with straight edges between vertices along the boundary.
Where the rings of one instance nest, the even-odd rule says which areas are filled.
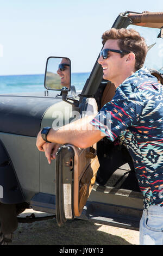
[[[118,137],[134,161],[144,207],[163,206],[163,86],[143,67],[116,89],[91,121],[108,139]]]

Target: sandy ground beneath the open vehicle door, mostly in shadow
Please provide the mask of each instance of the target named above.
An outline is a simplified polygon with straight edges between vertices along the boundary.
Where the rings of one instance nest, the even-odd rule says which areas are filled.
[[[20,217],[43,212],[28,209]],[[139,231],[110,227],[83,220],[67,221],[58,227],[55,218],[33,223],[18,223],[11,245],[139,245]]]

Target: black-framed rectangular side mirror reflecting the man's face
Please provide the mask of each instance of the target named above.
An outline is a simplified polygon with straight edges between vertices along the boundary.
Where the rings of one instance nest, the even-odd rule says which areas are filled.
[[[66,57],[48,57],[44,87],[48,90],[70,91],[71,60]]]

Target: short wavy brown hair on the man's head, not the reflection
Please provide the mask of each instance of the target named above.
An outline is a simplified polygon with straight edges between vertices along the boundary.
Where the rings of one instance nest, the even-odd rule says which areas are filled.
[[[142,68],[148,47],[145,39],[134,29],[126,28],[111,28],[102,35],[102,43],[105,44],[108,39],[118,39],[118,46],[120,50],[126,50],[135,53],[135,70]],[[125,54],[125,53],[124,53]],[[121,56],[123,57],[122,53]]]

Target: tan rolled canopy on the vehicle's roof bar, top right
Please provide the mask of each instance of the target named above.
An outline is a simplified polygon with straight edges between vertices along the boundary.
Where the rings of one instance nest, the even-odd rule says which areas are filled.
[[[149,28],[161,28],[163,27],[163,12],[162,13],[151,13],[144,11],[141,14],[129,13],[127,15],[133,25],[149,27]]]

